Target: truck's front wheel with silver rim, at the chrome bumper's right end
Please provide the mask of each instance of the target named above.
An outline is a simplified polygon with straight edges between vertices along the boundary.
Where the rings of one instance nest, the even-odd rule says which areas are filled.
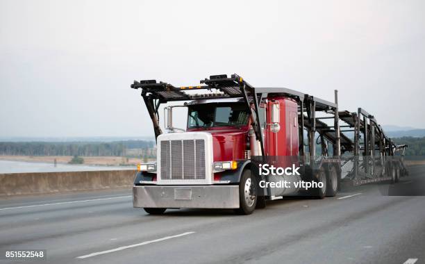
[[[251,175],[251,170],[244,170],[239,183],[239,208],[235,209],[235,213],[250,215],[256,210],[257,201],[256,178]]]

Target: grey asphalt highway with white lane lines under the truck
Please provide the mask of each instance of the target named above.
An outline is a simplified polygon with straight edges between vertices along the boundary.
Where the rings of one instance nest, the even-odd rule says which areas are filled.
[[[247,216],[147,215],[129,191],[6,199],[0,251],[47,249],[41,263],[425,263],[425,197],[387,196],[424,188],[424,170],[334,198],[270,201]]]

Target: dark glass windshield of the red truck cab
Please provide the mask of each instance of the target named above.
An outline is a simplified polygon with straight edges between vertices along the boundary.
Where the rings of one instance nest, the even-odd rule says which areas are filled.
[[[249,113],[243,103],[197,104],[189,106],[188,128],[212,126],[244,126]]]

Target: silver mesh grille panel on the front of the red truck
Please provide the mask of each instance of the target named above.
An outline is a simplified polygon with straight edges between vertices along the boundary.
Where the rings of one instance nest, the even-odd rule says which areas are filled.
[[[163,140],[160,145],[161,179],[206,179],[205,140]]]

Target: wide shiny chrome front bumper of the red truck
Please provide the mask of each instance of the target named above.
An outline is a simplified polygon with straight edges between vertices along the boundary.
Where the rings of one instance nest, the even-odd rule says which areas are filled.
[[[146,208],[239,208],[239,186],[133,186],[133,206]]]

